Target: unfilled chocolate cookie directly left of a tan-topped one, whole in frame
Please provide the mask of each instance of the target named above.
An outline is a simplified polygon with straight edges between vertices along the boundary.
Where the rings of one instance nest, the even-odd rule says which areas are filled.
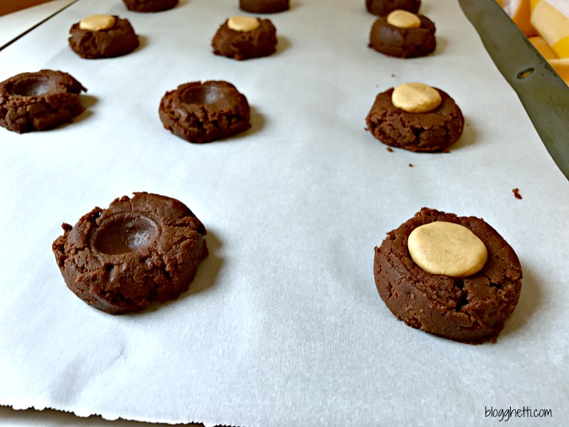
[[[251,127],[247,98],[224,81],[186,83],[166,92],[159,115],[167,130],[189,142],[211,142]]]

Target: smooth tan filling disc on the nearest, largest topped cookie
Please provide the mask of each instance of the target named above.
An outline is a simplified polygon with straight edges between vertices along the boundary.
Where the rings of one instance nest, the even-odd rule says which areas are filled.
[[[415,228],[407,246],[411,258],[422,270],[452,278],[478,273],[488,259],[486,246],[472,231],[446,221]]]

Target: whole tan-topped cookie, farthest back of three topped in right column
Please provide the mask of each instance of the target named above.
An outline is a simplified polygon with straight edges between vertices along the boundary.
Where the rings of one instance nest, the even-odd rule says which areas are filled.
[[[416,58],[435,51],[435,23],[426,16],[393,11],[371,26],[369,47],[388,56]]]

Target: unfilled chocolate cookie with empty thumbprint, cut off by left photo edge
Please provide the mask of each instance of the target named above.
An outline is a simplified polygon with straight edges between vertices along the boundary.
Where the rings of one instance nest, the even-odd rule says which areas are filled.
[[[0,126],[24,133],[70,122],[83,112],[79,95],[86,91],[61,71],[14,75],[0,83]]]

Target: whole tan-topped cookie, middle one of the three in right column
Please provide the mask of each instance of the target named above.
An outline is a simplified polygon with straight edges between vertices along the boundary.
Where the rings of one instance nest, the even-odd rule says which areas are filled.
[[[376,97],[366,124],[391,147],[445,152],[462,135],[464,117],[452,97],[423,83],[405,83]]]

